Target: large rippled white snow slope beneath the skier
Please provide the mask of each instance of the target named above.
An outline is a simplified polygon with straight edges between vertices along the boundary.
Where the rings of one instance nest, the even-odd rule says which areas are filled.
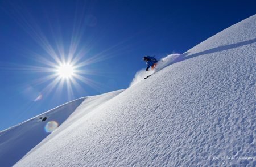
[[[125,91],[85,99],[14,166],[255,166],[255,24],[256,15]]]

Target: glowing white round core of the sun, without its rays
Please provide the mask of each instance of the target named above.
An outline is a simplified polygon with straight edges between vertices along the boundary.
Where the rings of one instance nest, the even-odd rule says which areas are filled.
[[[74,67],[71,64],[61,64],[57,67],[57,74],[60,78],[69,79],[74,75]]]

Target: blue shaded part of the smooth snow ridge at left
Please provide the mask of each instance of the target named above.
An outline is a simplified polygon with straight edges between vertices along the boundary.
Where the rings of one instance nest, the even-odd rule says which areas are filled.
[[[18,162],[28,151],[46,138],[44,126],[48,121],[63,123],[84,99],[68,102],[46,113],[31,118],[20,125],[0,132],[0,166],[11,166]],[[47,117],[46,121],[42,119]]]

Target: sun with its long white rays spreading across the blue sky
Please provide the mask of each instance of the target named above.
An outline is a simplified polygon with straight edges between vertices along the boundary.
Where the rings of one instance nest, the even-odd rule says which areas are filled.
[[[45,96],[60,96],[64,89],[67,90],[67,97],[72,100],[76,92],[83,92],[92,88],[97,92],[104,92],[106,85],[97,82],[97,76],[103,76],[107,71],[98,69],[96,63],[106,61],[115,55],[127,51],[124,45],[128,39],[118,41],[117,44],[103,48],[96,48],[102,40],[104,29],[101,33],[89,34],[87,29],[97,25],[97,18],[92,14],[87,14],[86,7],[81,7],[77,2],[77,8],[73,13],[73,24],[63,25],[59,22],[58,16],[47,16],[44,22],[40,23],[31,14],[30,9],[22,4],[11,3],[14,10],[6,11],[15,20],[20,28],[27,33],[28,37],[34,41],[32,48],[26,44],[19,53],[24,57],[22,64],[13,63],[0,68],[4,70],[15,70],[24,75],[33,75],[31,80],[24,80],[27,85],[32,85],[39,89],[40,98]],[[22,10],[20,10],[22,6]],[[92,21],[92,23],[89,23]],[[43,26],[42,26],[43,25]],[[131,47],[130,47],[131,48]],[[76,92],[75,92],[76,91]],[[77,95],[77,94],[76,94]],[[43,97],[42,97],[43,96]],[[53,97],[52,98],[55,98]],[[49,97],[49,96],[48,96]]]

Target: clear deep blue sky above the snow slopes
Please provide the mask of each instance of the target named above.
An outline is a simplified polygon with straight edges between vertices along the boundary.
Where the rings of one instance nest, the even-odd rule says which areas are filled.
[[[0,130],[129,86],[144,55],[184,53],[256,1],[0,1]],[[72,63],[71,78],[59,66]],[[68,68],[68,65],[65,66]]]

